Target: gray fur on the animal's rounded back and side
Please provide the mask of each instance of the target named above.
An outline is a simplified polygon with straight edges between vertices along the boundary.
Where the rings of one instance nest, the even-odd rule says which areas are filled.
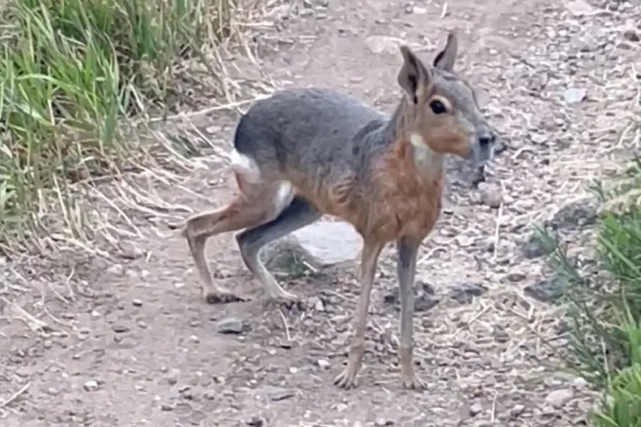
[[[255,102],[238,122],[234,147],[267,174],[293,169],[322,181],[332,172],[366,173],[393,135],[389,117],[355,97],[296,88]]]

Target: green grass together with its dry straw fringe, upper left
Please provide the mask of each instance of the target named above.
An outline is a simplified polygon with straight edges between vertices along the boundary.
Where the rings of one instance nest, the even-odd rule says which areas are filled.
[[[110,191],[125,206],[166,210],[144,186],[122,181],[124,174],[170,184],[178,180],[171,170],[203,167],[193,152],[176,147],[159,122],[179,120],[184,139],[206,140],[190,125],[191,117],[238,109],[250,102],[247,98],[270,90],[268,81],[241,88],[230,77],[233,65],[224,60],[230,48],[240,48],[257,65],[245,37],[249,23],[266,13],[257,3],[6,4],[0,251],[17,255],[75,246],[104,255],[91,243],[99,234],[110,242],[122,234],[139,235],[120,201],[100,190],[105,181],[122,182]],[[204,109],[203,99],[210,104]],[[184,113],[194,107],[196,112]],[[92,211],[92,200],[110,205],[117,218]]]

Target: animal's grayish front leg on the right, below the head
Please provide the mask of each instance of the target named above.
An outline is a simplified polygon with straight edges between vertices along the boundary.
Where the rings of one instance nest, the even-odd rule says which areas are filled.
[[[400,238],[398,251],[398,286],[401,295],[401,339],[398,359],[401,364],[401,381],[406,389],[423,390],[427,384],[414,374],[413,365],[413,320],[414,320],[414,273],[420,241],[415,238]]]

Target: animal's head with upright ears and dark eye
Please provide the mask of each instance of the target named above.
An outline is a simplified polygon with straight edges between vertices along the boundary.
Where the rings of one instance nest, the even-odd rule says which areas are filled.
[[[401,117],[403,133],[415,147],[474,159],[482,167],[492,158],[496,136],[480,111],[475,91],[454,71],[456,53],[454,33],[448,34],[445,48],[430,68],[410,48],[401,46],[398,84],[408,97]]]

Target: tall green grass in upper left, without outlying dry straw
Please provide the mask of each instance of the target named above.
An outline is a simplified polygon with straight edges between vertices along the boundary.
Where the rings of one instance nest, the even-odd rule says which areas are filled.
[[[52,199],[64,218],[69,184],[112,174],[137,156],[123,120],[166,107],[176,66],[228,35],[231,8],[231,0],[3,6],[0,249],[48,231],[41,213]]]

